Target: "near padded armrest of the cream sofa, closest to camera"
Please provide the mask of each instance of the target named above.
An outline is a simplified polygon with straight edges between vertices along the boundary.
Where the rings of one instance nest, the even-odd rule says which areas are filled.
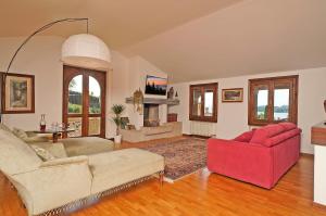
[[[88,157],[45,162],[38,169],[11,176],[29,215],[39,215],[90,194]]]

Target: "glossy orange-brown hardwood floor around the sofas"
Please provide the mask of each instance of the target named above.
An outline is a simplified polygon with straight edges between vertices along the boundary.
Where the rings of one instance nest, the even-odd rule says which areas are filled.
[[[128,147],[129,143],[122,144]],[[273,190],[200,170],[163,187],[158,179],[149,180],[72,215],[326,216],[326,207],[313,205],[312,200],[313,157],[303,155]],[[0,215],[26,215],[2,175]]]

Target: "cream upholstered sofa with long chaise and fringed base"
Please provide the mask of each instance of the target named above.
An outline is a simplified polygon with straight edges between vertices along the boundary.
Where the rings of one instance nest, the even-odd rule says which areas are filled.
[[[67,157],[62,143],[48,144],[40,145],[55,158],[42,161],[29,144],[0,129],[0,170],[17,189],[28,215],[49,215],[154,174],[162,179],[164,158],[154,153],[125,149]]]

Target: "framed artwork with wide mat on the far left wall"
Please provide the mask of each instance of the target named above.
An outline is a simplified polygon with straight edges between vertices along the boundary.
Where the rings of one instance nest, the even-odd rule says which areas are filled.
[[[2,75],[2,113],[35,113],[34,75]]]

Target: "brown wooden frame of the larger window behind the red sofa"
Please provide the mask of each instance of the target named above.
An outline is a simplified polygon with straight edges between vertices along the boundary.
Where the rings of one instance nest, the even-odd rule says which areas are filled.
[[[285,120],[274,120],[274,90],[277,84],[290,84],[289,118],[286,122],[298,124],[298,84],[299,75],[258,78],[248,80],[248,125],[264,126]],[[268,88],[267,119],[256,119],[254,87],[266,85]],[[277,89],[277,88],[276,88]]]

